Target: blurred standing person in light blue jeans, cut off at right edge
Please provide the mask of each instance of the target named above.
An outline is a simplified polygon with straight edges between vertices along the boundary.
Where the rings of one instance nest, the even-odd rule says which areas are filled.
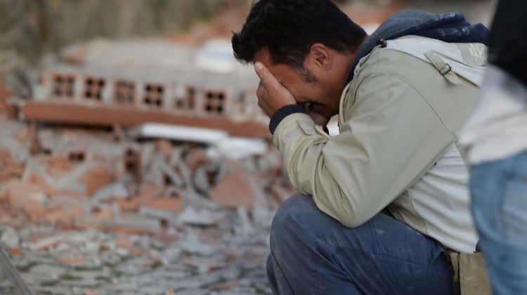
[[[500,0],[476,110],[462,129],[474,222],[495,294],[527,294],[527,1]]]

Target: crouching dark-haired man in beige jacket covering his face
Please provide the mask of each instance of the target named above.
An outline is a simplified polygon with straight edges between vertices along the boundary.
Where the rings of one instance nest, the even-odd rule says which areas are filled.
[[[273,144],[304,194],[273,218],[275,294],[453,294],[445,248],[471,254],[478,240],[457,134],[487,41],[460,13],[401,11],[367,36],[329,0],[252,6],[233,50],[254,64]]]

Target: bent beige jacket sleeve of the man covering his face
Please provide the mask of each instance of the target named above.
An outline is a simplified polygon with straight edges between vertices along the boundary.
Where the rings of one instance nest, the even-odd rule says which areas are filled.
[[[307,114],[278,124],[273,144],[289,179],[348,227],[391,203],[452,142],[422,96],[396,77],[371,74],[346,93],[340,134],[329,138]],[[347,103],[346,100],[352,100]]]

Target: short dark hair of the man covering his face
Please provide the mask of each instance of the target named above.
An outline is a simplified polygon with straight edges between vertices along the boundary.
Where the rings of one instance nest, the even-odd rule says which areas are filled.
[[[266,48],[273,63],[303,69],[313,44],[348,54],[365,36],[330,0],[260,0],[232,42],[234,55],[242,62],[252,63],[254,55]]]

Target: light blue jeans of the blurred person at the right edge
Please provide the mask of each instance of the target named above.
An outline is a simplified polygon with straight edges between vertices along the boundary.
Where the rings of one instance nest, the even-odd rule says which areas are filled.
[[[471,167],[474,223],[495,294],[527,294],[527,152]]]

